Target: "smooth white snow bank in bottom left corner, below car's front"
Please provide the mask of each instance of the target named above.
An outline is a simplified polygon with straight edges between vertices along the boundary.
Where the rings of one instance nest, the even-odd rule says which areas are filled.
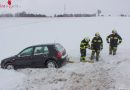
[[[16,90],[23,83],[24,74],[0,69],[0,90]]]

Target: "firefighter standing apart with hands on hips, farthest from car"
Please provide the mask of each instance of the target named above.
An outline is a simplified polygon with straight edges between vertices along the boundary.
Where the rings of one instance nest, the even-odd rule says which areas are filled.
[[[107,43],[109,43],[109,55],[116,55],[117,46],[122,42],[121,36],[116,30],[112,30],[112,34],[107,36]]]

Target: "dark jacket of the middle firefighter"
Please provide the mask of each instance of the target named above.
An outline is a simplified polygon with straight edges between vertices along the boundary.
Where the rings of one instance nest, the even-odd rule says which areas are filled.
[[[101,50],[101,49],[103,49],[103,41],[102,41],[102,38],[100,36],[99,37],[94,37],[92,39],[91,49],[92,50]]]

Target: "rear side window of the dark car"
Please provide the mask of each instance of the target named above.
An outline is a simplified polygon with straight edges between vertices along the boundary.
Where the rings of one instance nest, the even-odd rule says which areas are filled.
[[[49,53],[49,50],[47,46],[35,47],[34,55],[48,54],[48,53]]]

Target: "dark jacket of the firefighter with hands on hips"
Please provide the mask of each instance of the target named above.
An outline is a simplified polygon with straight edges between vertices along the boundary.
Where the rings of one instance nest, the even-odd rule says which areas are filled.
[[[110,34],[109,36],[107,36],[106,39],[107,39],[108,43],[110,42],[110,46],[112,46],[112,47],[117,47],[117,45],[122,42],[122,38],[117,33],[116,34]]]

